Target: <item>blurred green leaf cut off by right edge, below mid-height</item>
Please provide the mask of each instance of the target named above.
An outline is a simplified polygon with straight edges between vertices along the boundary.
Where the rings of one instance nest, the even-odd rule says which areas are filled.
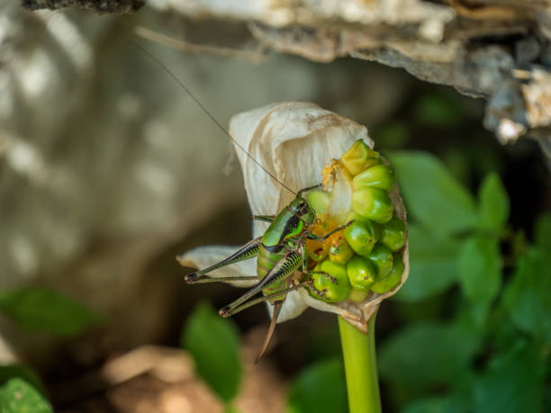
[[[551,343],[551,265],[548,252],[530,248],[503,294],[512,322]]]

